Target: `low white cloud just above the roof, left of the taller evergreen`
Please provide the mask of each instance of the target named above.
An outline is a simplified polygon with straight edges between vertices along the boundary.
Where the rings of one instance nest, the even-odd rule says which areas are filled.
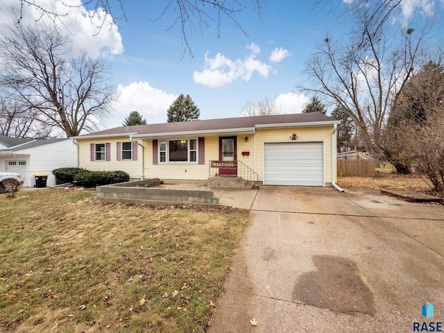
[[[114,108],[114,119],[110,119],[108,126],[121,126],[123,119],[131,111],[138,111],[148,123],[159,122],[160,116],[167,120],[167,110],[171,103],[177,98],[164,90],[151,87],[144,82],[133,82],[129,85],[117,87],[119,99],[112,105]],[[155,119],[153,121],[153,119]]]

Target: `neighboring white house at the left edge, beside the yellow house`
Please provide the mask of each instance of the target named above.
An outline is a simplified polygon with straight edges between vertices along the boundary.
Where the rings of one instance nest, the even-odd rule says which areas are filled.
[[[77,145],[72,139],[0,136],[0,171],[20,173],[24,186],[34,187],[34,175],[39,174],[48,175],[47,186],[56,185],[53,169],[77,166]]]

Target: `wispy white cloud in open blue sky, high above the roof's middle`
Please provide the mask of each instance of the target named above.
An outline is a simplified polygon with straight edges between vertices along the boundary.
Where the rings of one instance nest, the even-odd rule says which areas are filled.
[[[259,45],[251,43],[246,46],[251,53],[244,60],[231,60],[217,53],[214,58],[208,58],[205,53],[205,69],[203,71],[194,71],[194,82],[208,87],[221,87],[234,80],[250,80],[255,72],[263,78],[268,77],[271,71],[271,65],[257,60],[256,56],[260,52]]]

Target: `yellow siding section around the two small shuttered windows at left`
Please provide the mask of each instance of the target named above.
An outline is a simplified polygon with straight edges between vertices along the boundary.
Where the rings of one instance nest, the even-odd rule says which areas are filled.
[[[136,140],[135,140],[136,141]],[[78,140],[78,166],[91,171],[117,171],[122,170],[130,175],[130,178],[140,178],[142,176],[142,147],[137,145],[137,160],[117,160],[117,142],[130,142],[128,137],[113,137],[100,139]],[[137,140],[142,144],[142,140]],[[110,161],[90,160],[90,144],[110,143]]]

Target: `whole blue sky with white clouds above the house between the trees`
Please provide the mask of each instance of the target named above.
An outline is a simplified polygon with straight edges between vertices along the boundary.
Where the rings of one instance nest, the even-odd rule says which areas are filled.
[[[123,2],[127,22],[121,19],[117,1],[112,2],[115,17],[107,17],[100,30],[96,26],[103,22],[102,12],[89,19],[80,0],[67,1],[77,5],[68,10],[60,0],[38,1],[55,11],[69,11],[62,23],[71,32],[74,48],[103,56],[110,64],[119,99],[102,128],[121,126],[133,110],[148,123],[165,122],[179,94],[191,96],[200,119],[240,117],[248,101],[264,98],[276,99],[282,113],[301,112],[310,96],[294,92],[307,79],[301,73],[305,61],[326,33],[341,37],[347,31],[343,20],[332,19],[347,8],[347,1],[332,2],[332,12],[314,8],[313,2],[263,0],[260,17],[251,6],[245,8],[237,19],[248,35],[222,17],[220,37],[216,24],[188,35],[191,58],[179,27],[171,27],[175,13],[168,11],[156,20],[168,1]],[[0,20],[17,3],[0,0]],[[427,14],[437,6],[438,0],[405,0],[404,15],[416,10]],[[33,8],[25,8],[24,14],[30,22],[39,17]],[[117,25],[110,25],[112,19]]]

